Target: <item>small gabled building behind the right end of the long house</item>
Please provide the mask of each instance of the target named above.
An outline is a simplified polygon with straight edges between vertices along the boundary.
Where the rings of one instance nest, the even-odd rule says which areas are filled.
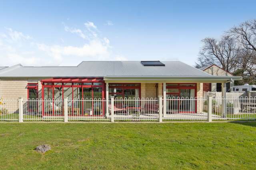
[[[213,76],[233,76],[230,72],[227,72],[225,70],[223,70],[222,68],[220,68],[219,66],[217,66],[216,64],[212,64],[212,65],[208,65],[208,66],[204,66],[199,68],[200,70],[211,74]],[[204,92],[221,92],[222,91],[222,84],[221,83],[204,83],[203,84],[203,90]],[[232,91],[232,87],[234,85],[234,79],[231,79],[230,82],[226,83],[226,91]]]

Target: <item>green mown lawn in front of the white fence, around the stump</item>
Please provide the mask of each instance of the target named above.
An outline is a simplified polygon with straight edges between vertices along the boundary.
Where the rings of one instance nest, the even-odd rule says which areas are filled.
[[[0,123],[0,169],[255,169],[255,153],[256,122]]]

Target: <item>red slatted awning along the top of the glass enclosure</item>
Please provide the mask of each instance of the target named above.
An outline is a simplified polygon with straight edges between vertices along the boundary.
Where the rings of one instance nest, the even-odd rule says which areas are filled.
[[[103,78],[48,78],[41,80],[42,83],[84,83],[84,82],[103,82]]]

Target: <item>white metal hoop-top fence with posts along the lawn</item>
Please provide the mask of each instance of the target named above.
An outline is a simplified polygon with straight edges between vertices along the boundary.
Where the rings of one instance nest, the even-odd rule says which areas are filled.
[[[0,121],[255,120],[256,98],[0,100]]]

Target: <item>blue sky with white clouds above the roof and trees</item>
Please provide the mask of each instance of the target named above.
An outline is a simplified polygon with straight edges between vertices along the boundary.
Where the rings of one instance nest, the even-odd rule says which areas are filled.
[[[0,66],[81,61],[195,65],[205,37],[256,19],[247,0],[0,0]]]

